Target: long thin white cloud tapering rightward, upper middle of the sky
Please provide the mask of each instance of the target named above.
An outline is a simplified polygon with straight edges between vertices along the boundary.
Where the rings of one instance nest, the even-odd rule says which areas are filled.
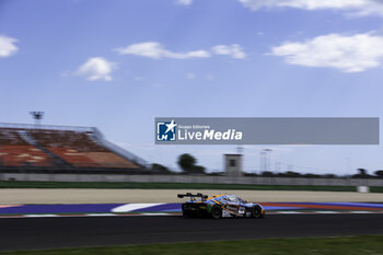
[[[165,47],[156,42],[144,42],[139,44],[132,44],[125,48],[117,48],[117,53],[120,55],[137,55],[148,58],[161,59],[161,58],[175,58],[175,59],[189,59],[189,58],[208,58],[210,54],[206,50],[193,50],[186,53],[173,53],[165,49]]]

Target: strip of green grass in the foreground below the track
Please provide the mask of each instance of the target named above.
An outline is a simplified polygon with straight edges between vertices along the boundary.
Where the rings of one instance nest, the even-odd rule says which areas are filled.
[[[0,252],[0,255],[155,255],[155,254],[257,254],[257,255],[378,255],[383,254],[383,235],[264,239],[248,241],[220,241],[175,244],[148,244],[61,248],[46,251]]]

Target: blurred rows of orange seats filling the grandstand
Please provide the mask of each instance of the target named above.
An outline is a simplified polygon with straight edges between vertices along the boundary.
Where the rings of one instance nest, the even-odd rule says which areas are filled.
[[[34,140],[33,144],[23,139],[25,132]],[[0,163],[4,166],[54,166],[51,157],[57,157],[78,169],[140,169],[93,140],[91,135],[91,131],[0,128]]]

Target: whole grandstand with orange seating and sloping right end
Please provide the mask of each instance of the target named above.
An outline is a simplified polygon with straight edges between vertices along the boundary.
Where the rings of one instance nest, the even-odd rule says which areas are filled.
[[[1,170],[144,170],[93,127],[0,124]]]

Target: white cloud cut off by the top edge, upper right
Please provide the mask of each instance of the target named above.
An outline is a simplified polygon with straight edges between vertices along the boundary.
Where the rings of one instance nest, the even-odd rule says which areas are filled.
[[[271,8],[295,8],[302,10],[340,10],[351,15],[383,15],[381,0],[237,0],[253,11]]]

